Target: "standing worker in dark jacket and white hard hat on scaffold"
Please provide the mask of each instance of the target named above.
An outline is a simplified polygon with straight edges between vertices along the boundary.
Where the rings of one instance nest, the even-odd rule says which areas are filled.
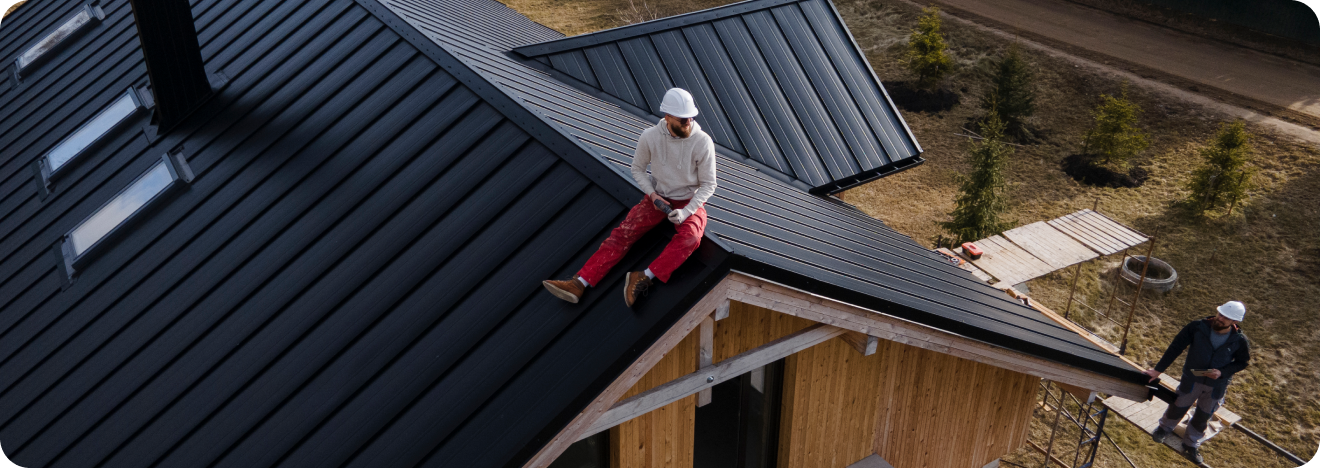
[[[1205,442],[1205,426],[1224,403],[1233,374],[1246,369],[1251,360],[1251,343],[1238,327],[1243,315],[1246,306],[1229,301],[1218,307],[1217,315],[1188,323],[1173,337],[1159,364],[1146,370],[1154,382],[1187,349],[1177,398],[1168,405],[1152,436],[1155,442],[1163,443],[1195,405],[1196,413],[1183,434],[1183,455],[1197,464],[1201,463],[1200,447]]]

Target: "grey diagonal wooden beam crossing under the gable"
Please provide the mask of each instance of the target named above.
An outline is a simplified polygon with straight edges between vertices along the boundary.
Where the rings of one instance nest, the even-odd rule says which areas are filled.
[[[845,330],[822,323],[803,328],[792,335],[770,341],[759,348],[742,355],[719,361],[706,369],[675,378],[651,390],[635,394],[615,403],[598,418],[590,428],[582,431],[578,439],[585,439],[610,427],[618,426],[628,419],[640,417],[665,405],[686,398],[693,393],[713,388],[730,378],[742,376],[752,369],[780,359],[792,356],[803,349],[825,343],[829,339],[843,335]]]

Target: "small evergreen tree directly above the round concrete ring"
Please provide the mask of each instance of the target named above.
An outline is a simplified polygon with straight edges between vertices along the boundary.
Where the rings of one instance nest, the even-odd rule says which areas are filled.
[[[1100,163],[1125,166],[1129,158],[1150,146],[1146,133],[1137,128],[1142,108],[1127,99],[1126,83],[1118,98],[1100,95],[1100,99],[1094,112],[1096,127],[1086,132],[1084,152],[1098,154],[1102,158]]]

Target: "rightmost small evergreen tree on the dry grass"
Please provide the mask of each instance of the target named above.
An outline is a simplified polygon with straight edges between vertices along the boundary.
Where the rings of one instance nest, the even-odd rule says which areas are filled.
[[[1251,134],[1241,120],[1220,127],[1220,132],[1201,149],[1204,162],[1192,171],[1187,202],[1197,214],[1228,206],[1242,198],[1251,185]]]

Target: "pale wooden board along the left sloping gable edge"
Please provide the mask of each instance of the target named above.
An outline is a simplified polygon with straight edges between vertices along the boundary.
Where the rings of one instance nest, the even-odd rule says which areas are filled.
[[[684,314],[673,327],[669,328],[669,331],[651,344],[651,347],[647,348],[647,351],[644,351],[636,361],[632,361],[632,364],[623,370],[623,374],[620,374],[619,378],[615,378],[614,382],[605,389],[605,392],[601,392],[601,394],[597,395],[595,399],[593,399],[591,403],[582,410],[582,413],[578,413],[578,415],[574,417],[573,421],[570,421],[569,424],[560,431],[560,434],[556,434],[554,438],[541,447],[541,450],[537,451],[536,455],[532,456],[532,459],[523,467],[549,467],[550,463],[560,456],[560,453],[564,453],[564,451],[569,448],[569,446],[582,439],[582,434],[586,432],[586,430],[590,428],[597,419],[605,415],[605,411],[607,411],[614,402],[619,401],[619,397],[623,397],[623,394],[627,393],[632,385],[636,385],[636,382],[642,380],[642,376],[645,376],[645,373],[649,372],[656,363],[664,359],[664,355],[668,353],[669,349],[678,345],[678,341],[682,341],[688,334],[701,324],[701,320],[709,318],[710,314],[719,307],[721,302],[726,301],[729,297],[729,278],[725,277],[725,279],[715,285],[715,287],[711,287],[706,297],[701,298],[696,306],[692,306],[692,308],[688,310],[688,312]]]

